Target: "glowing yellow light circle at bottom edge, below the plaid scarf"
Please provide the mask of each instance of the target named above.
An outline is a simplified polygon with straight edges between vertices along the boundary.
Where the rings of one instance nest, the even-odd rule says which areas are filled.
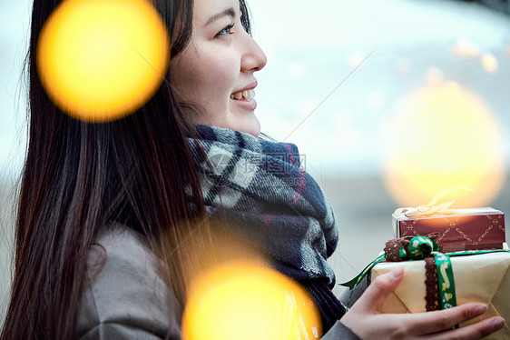
[[[184,340],[318,339],[319,313],[306,291],[266,265],[236,261],[201,276],[182,320]]]

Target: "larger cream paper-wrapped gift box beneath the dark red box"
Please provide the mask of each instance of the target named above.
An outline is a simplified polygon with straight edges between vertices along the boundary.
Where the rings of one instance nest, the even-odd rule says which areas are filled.
[[[481,302],[488,305],[485,314],[460,326],[501,315],[505,318],[505,327],[485,339],[510,339],[510,252],[451,256],[450,260],[454,273],[456,304]],[[424,260],[379,263],[372,268],[372,279],[400,265],[405,265],[404,279],[395,292],[387,297],[381,313],[426,312]]]

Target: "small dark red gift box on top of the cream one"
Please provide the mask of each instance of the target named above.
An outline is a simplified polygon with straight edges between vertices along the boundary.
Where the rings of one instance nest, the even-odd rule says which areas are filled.
[[[438,233],[441,252],[502,249],[505,243],[505,214],[494,208],[449,209],[434,215],[417,214],[417,209],[400,208],[393,213],[393,233],[403,236]]]

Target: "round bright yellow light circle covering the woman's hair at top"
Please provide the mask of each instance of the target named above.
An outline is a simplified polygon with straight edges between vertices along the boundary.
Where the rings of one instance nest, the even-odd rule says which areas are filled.
[[[169,45],[148,1],[65,0],[41,31],[37,69],[65,113],[111,121],[140,108],[161,85]]]

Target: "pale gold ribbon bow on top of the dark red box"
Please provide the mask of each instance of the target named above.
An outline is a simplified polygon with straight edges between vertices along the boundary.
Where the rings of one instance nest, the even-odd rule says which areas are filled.
[[[473,191],[469,186],[466,185],[453,185],[448,186],[445,189],[440,190],[436,196],[427,205],[419,205],[417,208],[398,208],[395,210],[395,215],[405,214],[409,218],[425,217],[429,215],[451,215],[456,214],[453,209],[448,209],[450,205],[453,205],[456,200],[437,204],[446,195],[453,194],[459,190]]]

